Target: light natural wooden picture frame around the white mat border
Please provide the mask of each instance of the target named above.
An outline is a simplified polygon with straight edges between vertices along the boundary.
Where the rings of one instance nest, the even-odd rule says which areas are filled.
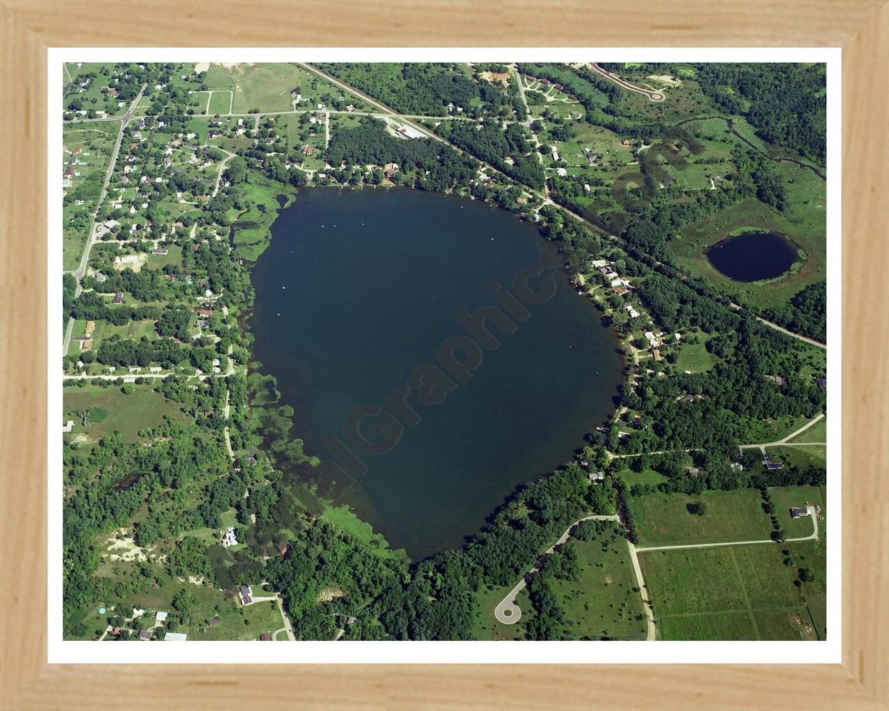
[[[889,707],[884,308],[889,4],[800,0],[483,8],[276,0],[4,0],[0,194],[0,695],[9,709]],[[842,46],[843,663],[114,666],[46,662],[46,49],[52,46]],[[49,122],[52,125],[52,122]],[[49,309],[50,317],[55,311]],[[52,321],[50,321],[52,323]],[[875,337],[873,334],[877,334]],[[865,353],[869,357],[858,357]],[[496,654],[496,651],[491,652]]]

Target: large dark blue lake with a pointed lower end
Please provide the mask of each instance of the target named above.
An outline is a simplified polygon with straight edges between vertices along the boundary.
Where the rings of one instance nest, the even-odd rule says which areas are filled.
[[[336,483],[324,475],[319,493],[353,507],[392,547],[414,558],[460,547],[517,484],[572,459],[613,414],[619,340],[557,270],[529,277],[525,290],[521,270],[539,266],[547,243],[517,216],[408,188],[311,188],[281,211],[272,235],[252,273],[254,355],[295,411],[292,435],[349,474]],[[492,282],[523,300],[501,291],[499,306],[485,291]],[[531,303],[546,284],[551,298]],[[470,332],[455,319],[484,307],[500,308],[505,323],[492,317],[486,332]],[[470,353],[481,362],[461,371]],[[409,376],[420,374],[427,379],[412,391],[422,392],[405,398]],[[386,451],[348,443],[343,424],[366,404],[381,409],[356,429]],[[332,456],[331,436],[364,473]]]

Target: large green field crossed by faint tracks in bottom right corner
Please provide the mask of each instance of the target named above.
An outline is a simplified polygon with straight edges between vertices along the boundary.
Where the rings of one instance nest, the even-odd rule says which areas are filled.
[[[773,544],[640,555],[661,639],[815,639],[783,557]]]

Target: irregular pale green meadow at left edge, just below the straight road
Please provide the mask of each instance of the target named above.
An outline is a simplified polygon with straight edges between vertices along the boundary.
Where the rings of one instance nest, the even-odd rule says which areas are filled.
[[[176,403],[169,403],[164,395],[156,393],[149,385],[136,385],[137,392],[125,395],[120,387],[112,385],[100,387],[66,387],[64,390],[64,419],[74,419],[74,435],[89,435],[99,440],[105,435],[119,431],[124,439],[133,441],[141,429],[157,427],[164,421],[164,415],[172,419],[184,420],[183,414]],[[96,422],[84,430],[75,412],[100,407],[108,411],[108,418]]]

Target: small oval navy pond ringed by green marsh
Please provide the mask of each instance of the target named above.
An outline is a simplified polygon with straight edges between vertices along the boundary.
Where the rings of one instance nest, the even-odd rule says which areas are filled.
[[[797,260],[797,248],[775,232],[748,232],[726,237],[705,252],[722,274],[739,282],[781,276]]]

